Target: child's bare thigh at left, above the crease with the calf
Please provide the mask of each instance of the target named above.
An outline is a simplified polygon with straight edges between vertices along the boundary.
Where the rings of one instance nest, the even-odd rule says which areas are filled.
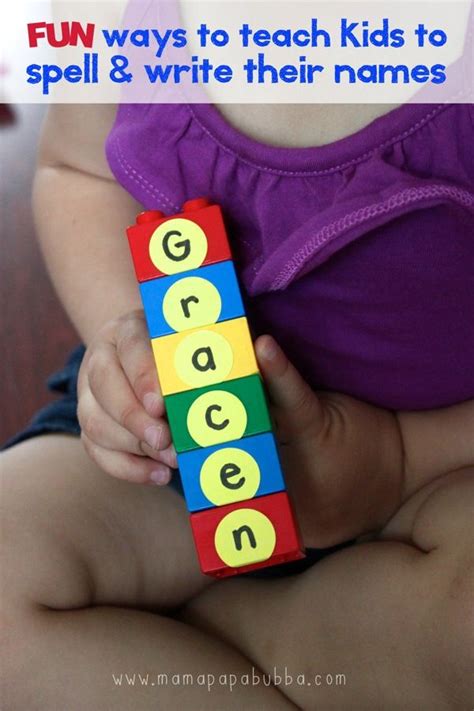
[[[29,440],[1,463],[4,599],[13,606],[165,611],[209,584],[170,488],[104,474],[65,435]]]

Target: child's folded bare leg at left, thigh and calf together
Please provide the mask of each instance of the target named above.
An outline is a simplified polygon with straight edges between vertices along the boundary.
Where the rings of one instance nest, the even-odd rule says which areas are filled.
[[[174,491],[101,473],[68,436],[30,440],[1,461],[6,711],[291,707],[274,687],[217,684],[251,662],[164,616],[210,582]],[[175,685],[173,674],[193,682]],[[199,674],[214,675],[211,692]]]

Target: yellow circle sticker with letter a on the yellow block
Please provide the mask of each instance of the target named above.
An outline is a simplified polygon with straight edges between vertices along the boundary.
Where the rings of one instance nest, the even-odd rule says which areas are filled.
[[[195,331],[176,348],[174,367],[186,385],[199,388],[221,383],[232,370],[234,354],[229,341],[214,331]]]

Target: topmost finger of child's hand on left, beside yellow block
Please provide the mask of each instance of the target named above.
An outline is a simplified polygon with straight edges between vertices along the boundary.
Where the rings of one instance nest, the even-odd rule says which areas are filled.
[[[144,318],[124,321],[116,334],[117,354],[130,385],[152,417],[165,414],[155,361]]]

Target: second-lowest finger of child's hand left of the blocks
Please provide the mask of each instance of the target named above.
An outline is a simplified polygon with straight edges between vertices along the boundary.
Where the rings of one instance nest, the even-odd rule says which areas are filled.
[[[81,394],[77,415],[82,432],[99,447],[138,456],[146,455],[167,463],[166,457],[163,458],[160,451],[139,442],[131,432],[115,422],[99,405],[89,388],[84,389]]]

